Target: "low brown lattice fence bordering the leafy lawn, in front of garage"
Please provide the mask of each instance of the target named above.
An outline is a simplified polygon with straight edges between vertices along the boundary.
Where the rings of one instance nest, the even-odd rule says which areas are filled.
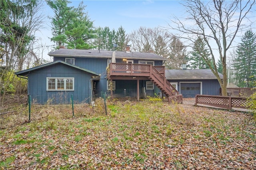
[[[247,100],[244,97],[232,96],[210,96],[210,95],[196,95],[197,104],[206,104],[218,108],[225,108],[231,110],[232,108],[246,108]]]

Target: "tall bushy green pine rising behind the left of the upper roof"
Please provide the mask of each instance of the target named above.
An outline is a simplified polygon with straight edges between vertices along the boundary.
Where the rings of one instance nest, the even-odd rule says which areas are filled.
[[[81,2],[77,8],[69,7],[68,0],[47,0],[47,4],[54,11],[52,19],[51,40],[56,48],[64,45],[67,48],[90,49],[93,48],[90,40],[95,37],[93,22],[88,18],[85,7]]]

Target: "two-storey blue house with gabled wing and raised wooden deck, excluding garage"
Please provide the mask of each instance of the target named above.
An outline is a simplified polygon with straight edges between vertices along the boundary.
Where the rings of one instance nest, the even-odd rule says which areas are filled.
[[[28,95],[38,104],[92,102],[102,92],[113,97],[178,94],[165,78],[165,59],[154,53],[60,48],[48,54],[54,61],[16,72],[28,78]]]

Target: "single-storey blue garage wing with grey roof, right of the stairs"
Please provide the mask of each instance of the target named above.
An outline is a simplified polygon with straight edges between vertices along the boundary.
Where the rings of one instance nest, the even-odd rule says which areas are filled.
[[[220,95],[220,84],[211,70],[166,70],[165,76],[183,98],[194,98],[196,94]]]

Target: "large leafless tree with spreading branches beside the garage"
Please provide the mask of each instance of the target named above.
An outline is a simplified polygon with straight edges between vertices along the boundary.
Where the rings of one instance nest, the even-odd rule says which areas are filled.
[[[250,21],[249,14],[252,12],[255,0],[187,0],[183,5],[188,16],[184,18],[185,20],[175,17],[175,20],[172,22],[176,26],[171,26],[170,24],[169,26],[173,30],[178,30],[181,33],[179,36],[186,40],[194,42],[198,37],[204,39],[210,50],[213,66],[207,58],[204,58],[204,60],[218,79],[222,88],[222,95],[227,95],[227,51],[238,32],[242,32],[250,27],[248,24],[252,22]],[[255,18],[253,20],[255,21]],[[216,49],[218,54],[214,52]],[[223,66],[223,80],[218,74],[215,62],[215,57],[218,58],[219,56]]]

